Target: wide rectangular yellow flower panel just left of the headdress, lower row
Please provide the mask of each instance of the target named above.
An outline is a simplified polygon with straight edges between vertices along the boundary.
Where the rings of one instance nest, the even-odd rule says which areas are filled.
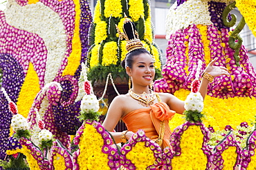
[[[102,65],[107,66],[118,62],[118,45],[116,41],[107,42],[103,47]]]

